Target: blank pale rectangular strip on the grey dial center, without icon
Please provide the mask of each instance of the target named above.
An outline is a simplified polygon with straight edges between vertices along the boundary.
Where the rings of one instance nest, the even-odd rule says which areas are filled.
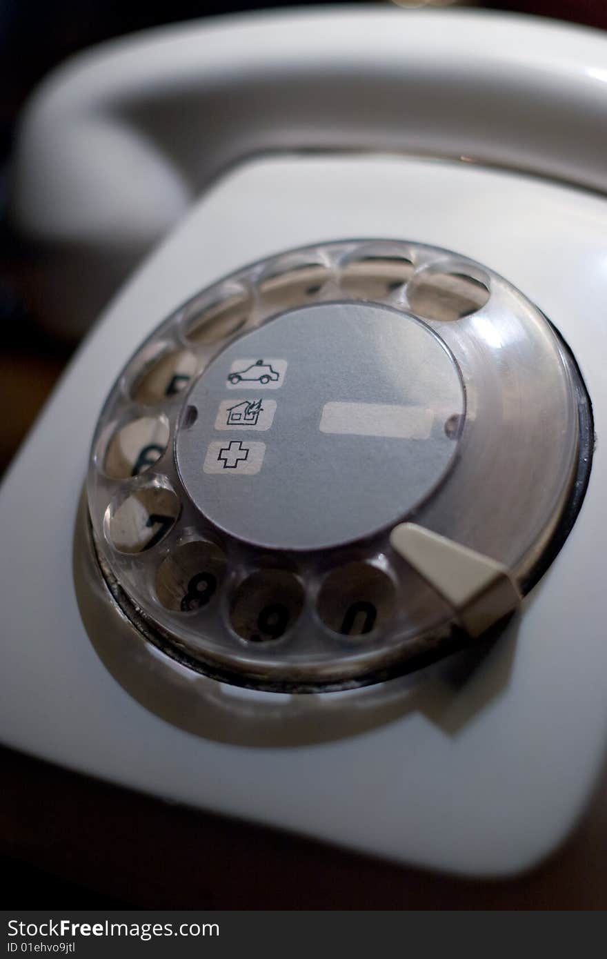
[[[325,403],[320,433],[385,436],[393,439],[428,439],[434,414],[425,407],[387,403]]]

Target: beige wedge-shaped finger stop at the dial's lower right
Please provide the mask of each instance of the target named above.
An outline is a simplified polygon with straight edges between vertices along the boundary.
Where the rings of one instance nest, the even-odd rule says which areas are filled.
[[[476,638],[513,613],[521,593],[511,573],[495,559],[417,526],[394,526],[390,543],[453,608],[455,618]]]

